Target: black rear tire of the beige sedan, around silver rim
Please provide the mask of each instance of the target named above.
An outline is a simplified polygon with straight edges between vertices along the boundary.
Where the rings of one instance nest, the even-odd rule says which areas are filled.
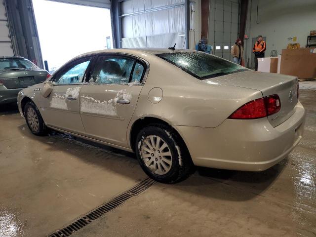
[[[144,152],[143,149],[143,144],[145,144],[145,139],[150,139],[150,137],[155,136],[155,137],[159,137],[160,139],[162,139],[162,141],[160,142],[160,144],[163,142],[167,144],[167,149],[168,151],[170,151],[171,153],[171,157],[169,158],[170,160],[172,160],[171,163],[171,167],[168,165],[167,168],[169,168],[169,170],[166,172],[166,170],[163,169],[162,165],[160,165],[160,168],[162,168],[162,170],[164,170],[164,174],[157,174],[155,173],[153,170],[151,170],[146,164],[145,164],[145,160],[148,161],[148,163],[152,163],[151,167],[158,167],[158,162],[162,162],[162,160],[165,160],[163,157],[161,160],[158,161],[158,157],[156,158],[155,154],[153,157],[148,157],[148,158],[142,158],[142,151]],[[155,139],[155,138],[154,138]],[[150,140],[147,140],[150,141]],[[157,141],[157,138],[156,138]],[[152,143],[151,143],[152,144]],[[145,145],[146,147],[146,145]],[[161,146],[162,147],[162,146]],[[179,135],[173,131],[172,128],[163,125],[163,124],[149,124],[148,126],[144,127],[137,135],[136,137],[136,144],[135,144],[135,152],[136,152],[136,156],[138,158],[138,161],[142,167],[142,169],[145,171],[145,173],[151,177],[152,179],[161,182],[161,183],[176,183],[179,182],[181,180],[184,180],[185,178],[187,178],[190,174],[190,171],[192,170],[193,167],[193,162],[192,159],[190,157],[190,154],[188,152],[188,149],[186,148],[184,142],[182,141],[181,138],[179,138]],[[147,148],[149,148],[149,146],[147,146]],[[155,150],[155,149],[154,149]],[[158,151],[159,152],[159,151]],[[163,152],[163,151],[161,151]],[[147,152],[146,154],[147,156],[149,155],[153,155],[150,154],[149,152]],[[150,160],[152,159],[152,161]],[[156,160],[156,163],[154,161],[154,159]],[[166,165],[167,163],[164,162],[164,164]],[[157,165],[157,166],[154,166]],[[156,170],[157,172],[157,170]]]

